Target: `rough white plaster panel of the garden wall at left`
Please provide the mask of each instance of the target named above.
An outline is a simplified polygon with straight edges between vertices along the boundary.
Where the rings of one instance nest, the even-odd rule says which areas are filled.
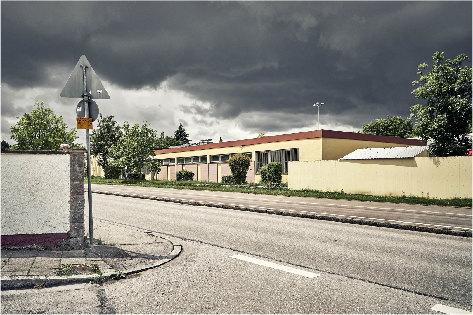
[[[1,234],[69,233],[69,154],[1,155]]]

